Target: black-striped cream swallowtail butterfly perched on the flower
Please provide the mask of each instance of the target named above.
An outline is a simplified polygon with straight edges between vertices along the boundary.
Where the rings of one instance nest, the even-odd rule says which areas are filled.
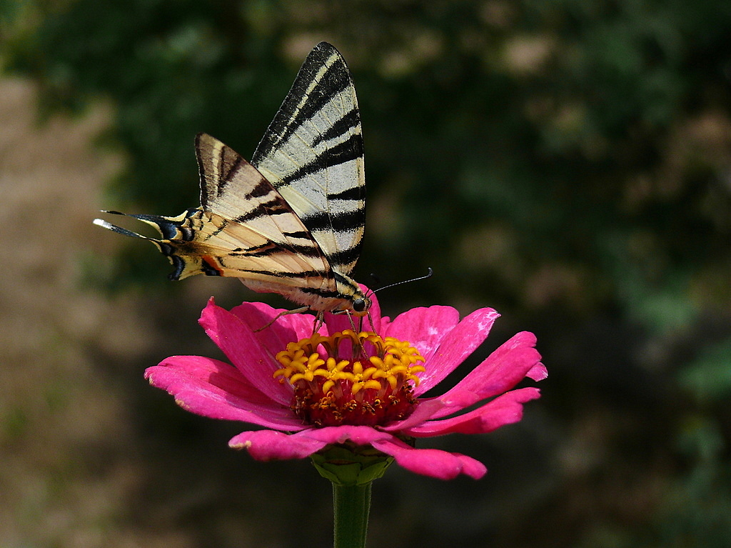
[[[292,312],[366,315],[371,301],[350,277],[365,223],[363,136],[336,48],[321,42],[308,54],[251,162],[205,133],[195,150],[200,207],[178,217],[129,215],[161,238],[94,223],[151,241],[173,263],[170,279],[238,277],[300,304]]]

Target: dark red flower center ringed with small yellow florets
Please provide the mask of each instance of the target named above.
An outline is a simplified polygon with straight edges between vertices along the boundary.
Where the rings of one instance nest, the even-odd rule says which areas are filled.
[[[292,410],[320,427],[398,421],[417,405],[417,373],[425,371],[409,342],[350,329],[289,342],[276,355],[274,378],[294,387]]]

